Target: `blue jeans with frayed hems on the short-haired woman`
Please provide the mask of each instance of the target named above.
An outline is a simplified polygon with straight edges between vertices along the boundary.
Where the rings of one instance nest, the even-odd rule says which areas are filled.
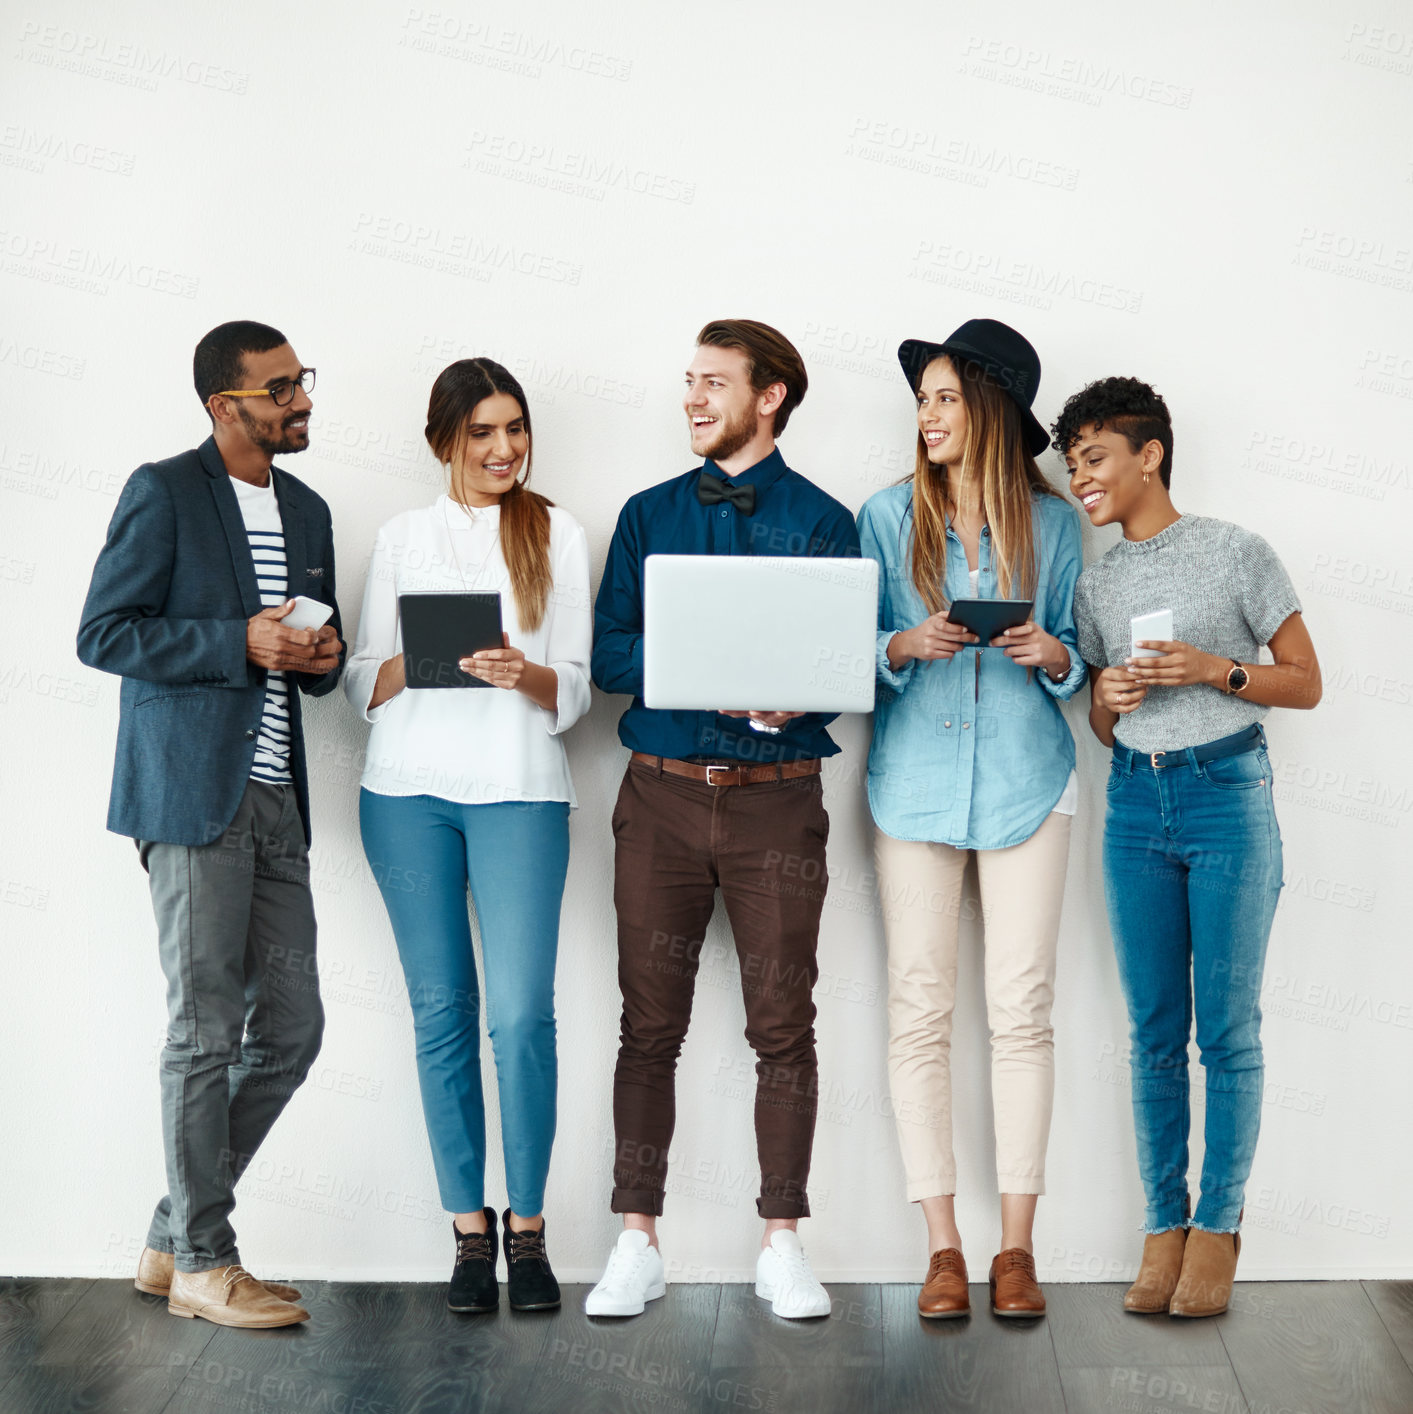
[[[1188,1225],[1188,1036],[1206,1072],[1202,1191],[1192,1226],[1235,1232],[1264,1069],[1260,984],[1280,895],[1266,738],[1198,762],[1115,747],[1103,872],[1129,1004],[1133,1123],[1150,1233]]]

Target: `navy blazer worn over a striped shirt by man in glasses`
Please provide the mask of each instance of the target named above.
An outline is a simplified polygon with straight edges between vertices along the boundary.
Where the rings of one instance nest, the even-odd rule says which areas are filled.
[[[334,609],[334,532],[324,498],[277,467],[289,598]],[[93,566],[78,655],[119,673],[117,756],[107,827],[136,840],[209,844],[235,817],[250,778],[266,670],[245,656],[246,621],[260,591],[240,505],[214,437],[147,462],[127,478]],[[344,670],[291,673],[311,697]],[[304,839],[308,775],[300,694],[290,693],[290,773]]]

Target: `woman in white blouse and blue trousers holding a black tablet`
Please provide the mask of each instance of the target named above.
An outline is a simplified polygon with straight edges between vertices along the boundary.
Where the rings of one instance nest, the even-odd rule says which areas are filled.
[[[485,966],[509,1206],[515,1309],[559,1305],[545,1251],[554,1138],[554,957],[576,803],[562,734],[588,710],[588,546],[529,491],[530,416],[489,359],[444,369],[427,443],[450,493],[378,532],[349,701],[373,724],[359,792],[364,850],[392,921],[417,1039],[423,1113],[457,1261],[448,1304],[498,1302],[495,1210],[485,1205],[485,1106],[467,891]],[[461,667],[495,691],[407,690],[397,595],[501,594],[505,646]]]

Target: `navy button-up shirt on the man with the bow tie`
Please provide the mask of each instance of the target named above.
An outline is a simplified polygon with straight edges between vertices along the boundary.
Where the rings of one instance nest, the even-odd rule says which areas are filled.
[[[755,512],[747,516],[730,502],[703,506],[697,501],[703,471],[728,485],[755,486]],[[628,501],[594,601],[593,677],[605,693],[632,694],[632,706],[618,721],[618,740],[631,751],[767,762],[833,756],[839,747],[825,727],[837,713],[805,713],[779,735],[768,735],[744,717],[644,706],[642,561],[649,554],[857,556],[859,530],[849,510],[791,471],[779,450],[735,477],[707,461]],[[728,633],[731,625],[723,629]]]

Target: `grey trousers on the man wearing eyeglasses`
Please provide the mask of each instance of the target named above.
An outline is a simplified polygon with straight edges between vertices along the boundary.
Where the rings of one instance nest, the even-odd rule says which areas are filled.
[[[318,1055],[314,899],[293,786],[252,781],[211,844],[137,841],[167,977],[167,1196],[147,1246],[178,1271],[240,1260],[235,1185]]]

